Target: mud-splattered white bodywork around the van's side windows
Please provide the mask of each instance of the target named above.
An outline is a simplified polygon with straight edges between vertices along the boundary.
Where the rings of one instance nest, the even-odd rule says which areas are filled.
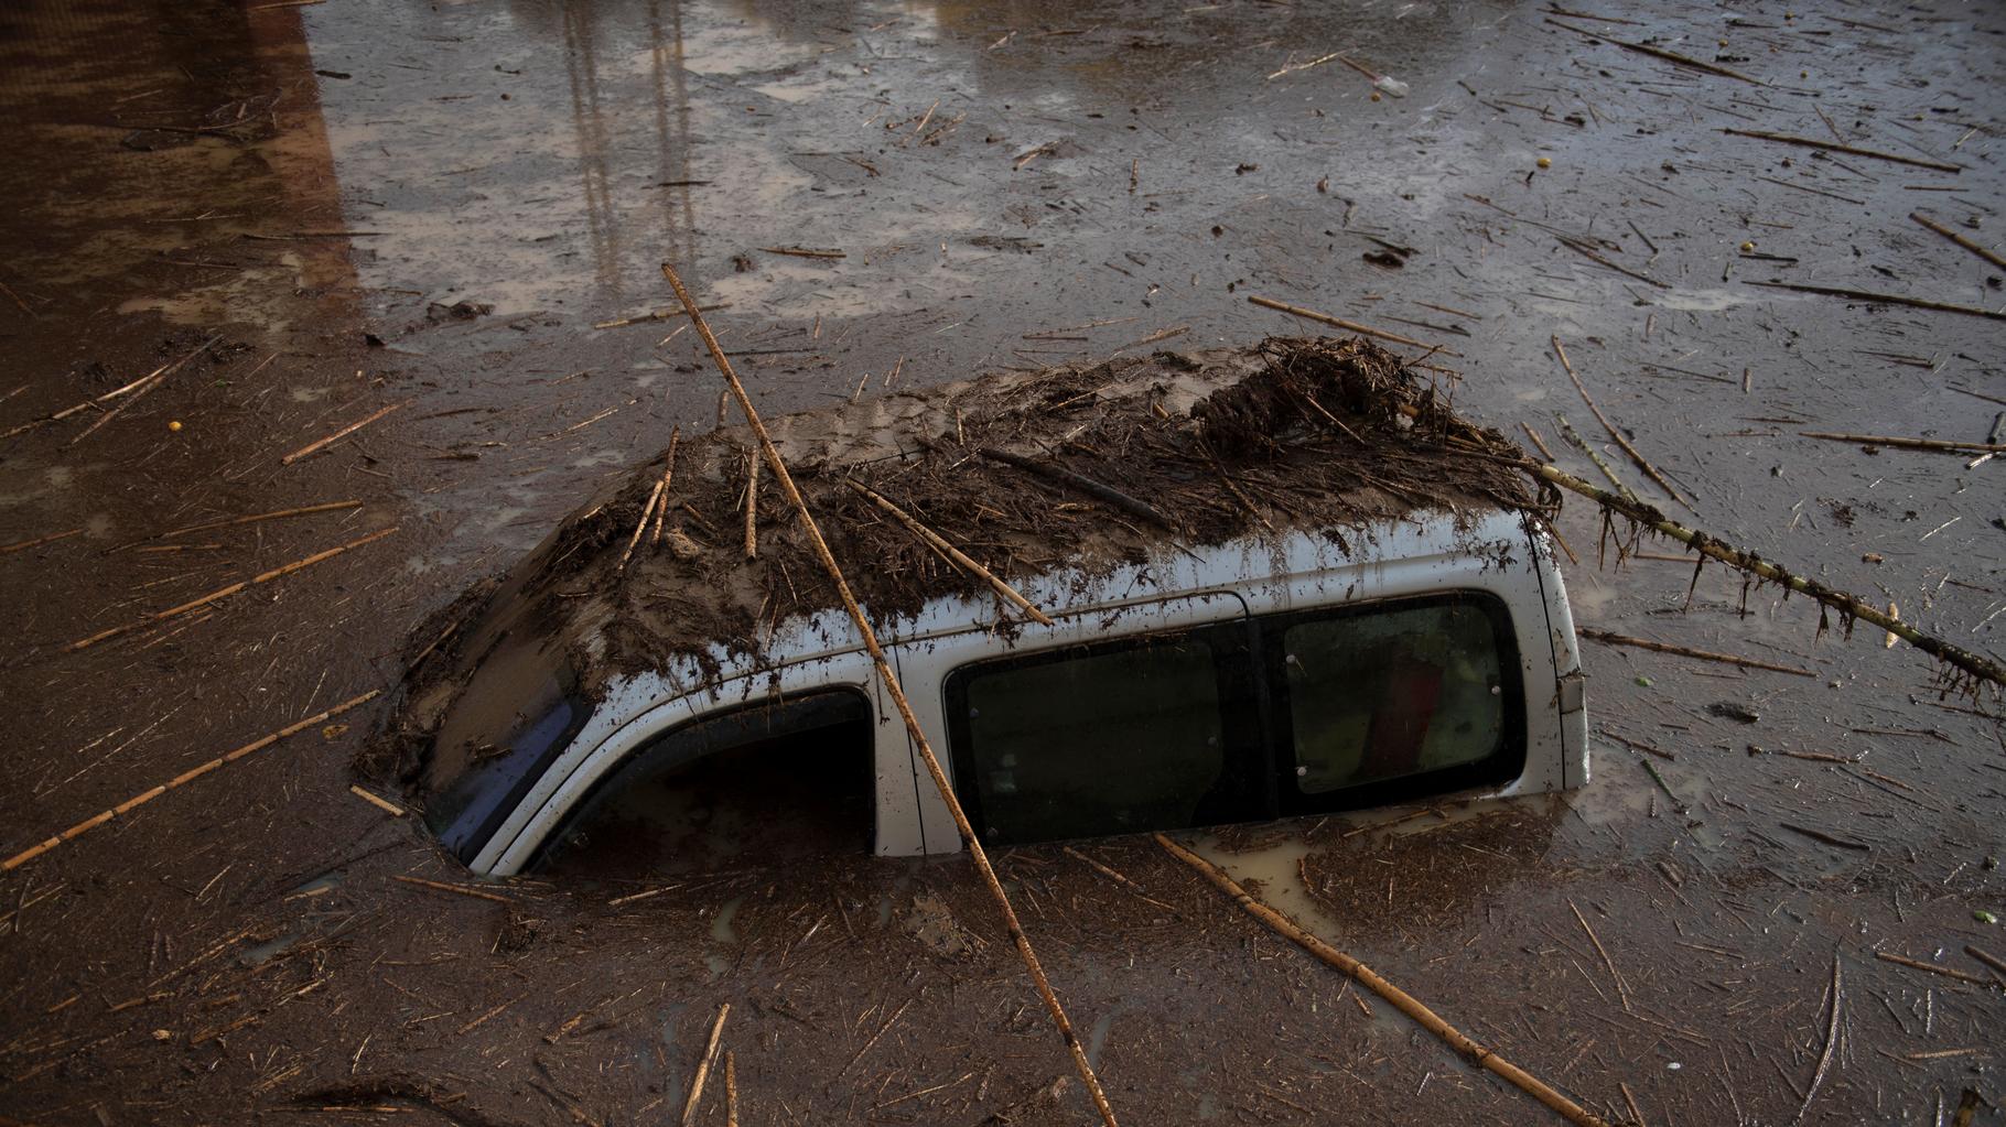
[[[1344,529],[1342,545],[1336,537],[1294,531],[1280,539],[1169,547],[1099,578],[1071,570],[1037,576],[1019,584],[1019,592],[1043,608],[1053,626],[1015,616],[1003,622],[995,600],[945,598],[879,628],[949,778],[945,684],[965,664],[1244,616],[1446,592],[1488,592],[1504,602],[1525,686],[1525,770],[1504,786],[1474,794],[1539,794],[1589,778],[1587,714],[1579,706],[1581,666],[1567,592],[1547,533],[1521,513],[1492,509],[1460,521],[1450,513],[1416,513]],[[877,852],[915,856],[963,848],[947,804],[843,612],[788,624],[762,652],[766,662],[714,650],[718,672],[712,678],[696,660],[616,678],[584,730],[510,812],[471,868],[495,876],[520,872],[592,784],[654,736],[764,696],[824,688],[855,688],[877,704]]]

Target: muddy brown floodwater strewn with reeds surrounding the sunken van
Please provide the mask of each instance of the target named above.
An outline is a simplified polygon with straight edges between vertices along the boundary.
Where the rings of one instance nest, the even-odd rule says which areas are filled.
[[[1912,213],[1996,247],[2002,34],[1950,2],[12,4],[0,852],[393,686],[425,614],[714,423],[646,319],[662,261],[764,411],[1308,327],[1262,295],[1438,345],[1460,411],[1591,475],[1559,339],[1697,525],[1996,654],[2006,465],[1799,435],[1986,441],[1996,315],[1755,283],[2000,309],[2006,269]],[[1585,626],[1815,676],[1589,642],[1587,790],[1206,850],[1613,1119],[1950,1123],[1970,1089],[1998,1121],[1998,722],[1805,600],[1689,594],[1675,545],[1599,570],[1585,505],[1561,531]],[[475,888],[351,790],[381,708],[0,876],[0,1115],[666,1121],[722,1003],[746,1123],[1091,1115],[963,858]],[[1125,1123],[1547,1115],[1151,842],[999,868]]]

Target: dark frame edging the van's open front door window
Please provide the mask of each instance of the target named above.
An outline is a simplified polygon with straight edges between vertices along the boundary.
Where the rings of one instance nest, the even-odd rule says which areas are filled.
[[[714,708],[648,736],[646,742],[620,756],[620,762],[594,780],[592,786],[576,802],[572,802],[564,816],[556,820],[550,832],[536,842],[536,850],[532,850],[530,858],[522,864],[522,872],[534,874],[550,864],[556,850],[572,836],[572,832],[592,820],[592,816],[612,802],[622,790],[634,786],[634,782],[642,776],[656,770],[660,766],[658,760],[678,760],[666,768],[676,770],[706,760],[718,752],[742,748],[744,744],[814,732],[816,728],[834,728],[851,718],[839,714],[843,708],[859,708],[861,712],[857,718],[865,720],[869,726],[869,760],[865,768],[875,778],[879,712],[871,696],[857,686],[832,684],[788,694],[784,698],[750,700]],[[869,826],[871,840],[877,840],[877,818],[879,810],[877,800],[873,798]]]

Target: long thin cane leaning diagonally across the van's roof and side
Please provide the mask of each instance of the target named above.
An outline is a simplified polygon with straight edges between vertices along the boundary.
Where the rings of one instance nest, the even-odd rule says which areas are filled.
[[[871,630],[871,620],[857,604],[857,596],[851,594],[851,584],[843,578],[843,568],[837,566],[837,557],[828,551],[828,541],[822,539],[822,529],[814,523],[814,513],[808,511],[808,501],[802,499],[800,489],[794,487],[794,475],[786,471],[780,447],[772,443],[772,435],[768,435],[766,425],[760,423],[758,407],[754,407],[752,397],[746,395],[744,383],[740,383],[738,373],[732,371],[732,361],[724,355],[724,347],[718,345],[710,325],[704,323],[702,311],[696,309],[696,299],[692,299],[690,291],[684,289],[682,279],[676,277],[676,269],[662,263],[662,277],[668,279],[676,297],[682,299],[682,307],[690,311],[690,323],[696,325],[696,333],[704,339],[704,347],[710,349],[710,359],[716,361],[718,373],[724,375],[726,387],[732,397],[738,399],[738,407],[746,413],[752,433],[758,435],[760,451],[766,455],[766,467],[772,469],[774,481],[780,483],[788,503],[792,503],[794,511],[800,515],[800,527],[808,535],[808,543],[814,547],[814,555],[820,559],[822,570],[828,572],[828,580],[837,586],[837,594],[843,598],[843,610],[847,610],[851,622],[857,624],[857,634],[863,638],[865,650],[877,666],[885,692],[891,694],[893,704],[899,706],[899,718],[905,720],[905,730],[913,738],[913,746],[919,748],[919,758],[927,764],[927,774],[933,778],[935,790],[941,792],[947,812],[953,814],[955,830],[961,834],[961,842],[969,848],[969,858],[975,860],[975,870],[981,872],[983,884],[989,886],[989,896],[1003,912],[1003,924],[1009,928],[1009,936],[1017,945],[1017,955],[1023,959],[1023,967],[1029,971],[1039,999],[1045,1003],[1045,1011],[1051,1015],[1053,1025],[1057,1025],[1059,1037],[1073,1055],[1073,1069],[1079,1071],[1079,1079],[1087,1085],[1087,1095],[1093,1099],[1093,1107],[1099,1111],[1103,1127],[1117,1127],[1115,1111],[1107,1105],[1107,1093],[1101,1091],[1101,1081],[1093,1075],[1093,1065],[1087,1061],[1087,1047],[1079,1043],[1079,1035],[1073,1033],[1073,1023],[1065,1017],[1065,1007],[1059,1005],[1059,995],[1051,991],[1051,981],[1045,979],[1045,969],[1039,965],[1037,953],[1031,951],[1031,936],[1027,936],[1023,932],[1023,924],[1017,922],[1017,910],[1009,902],[1009,892],[1005,892],[1003,882],[997,880],[997,872],[989,864],[989,852],[975,836],[975,826],[969,824],[969,814],[961,808],[961,800],[955,798],[955,786],[947,780],[947,772],[941,770],[941,758],[933,754],[933,742],[927,740],[927,730],[919,724],[919,716],[913,714],[913,704],[905,698],[905,690],[899,686],[899,674],[893,672],[891,662],[885,658],[885,650],[879,646],[877,632]]]

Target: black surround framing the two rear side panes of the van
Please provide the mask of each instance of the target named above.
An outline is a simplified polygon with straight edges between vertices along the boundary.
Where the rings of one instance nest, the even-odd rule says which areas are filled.
[[[1466,764],[1452,764],[1446,768],[1364,782],[1358,786],[1340,786],[1318,794],[1302,792],[1296,786],[1296,740],[1288,698],[1288,630],[1310,622],[1426,610],[1434,606],[1474,606],[1482,610],[1484,618],[1490,622],[1492,642],[1496,646],[1498,698],[1502,710],[1498,746],[1484,758]],[[991,826],[987,824],[981,796],[981,766],[975,758],[973,732],[969,726],[969,680],[991,672],[1009,672],[1029,666],[1091,658],[1190,636],[1204,636],[1204,640],[1214,648],[1214,666],[1216,676],[1220,678],[1220,700],[1228,704],[1222,716],[1222,732],[1228,754],[1226,772],[1236,776],[1236,794],[1240,798],[1236,816],[1228,820],[1212,820],[1206,822],[1206,826],[1270,822],[1278,818],[1388,806],[1412,798],[1442,796],[1476,786],[1507,784],[1525,774],[1527,706],[1523,656],[1511,606],[1494,592],[1458,588],[1452,592],[1392,596],[1308,610],[1284,610],[1254,616],[1240,614],[1198,626],[1135,632],[1101,642],[1075,642],[1031,654],[979,658],[949,670],[941,680],[941,690],[943,714],[947,720],[947,746],[955,766],[955,796],[961,800],[975,832],[981,834],[983,844],[1011,846],[1035,842],[1019,842],[1007,832],[991,832]],[[1236,662],[1244,662],[1244,666],[1228,668],[1228,656],[1234,656]],[[1236,700],[1242,704],[1234,704]],[[1234,762],[1236,758],[1240,762]],[[1204,826],[1165,826],[1165,830],[1178,828]]]

